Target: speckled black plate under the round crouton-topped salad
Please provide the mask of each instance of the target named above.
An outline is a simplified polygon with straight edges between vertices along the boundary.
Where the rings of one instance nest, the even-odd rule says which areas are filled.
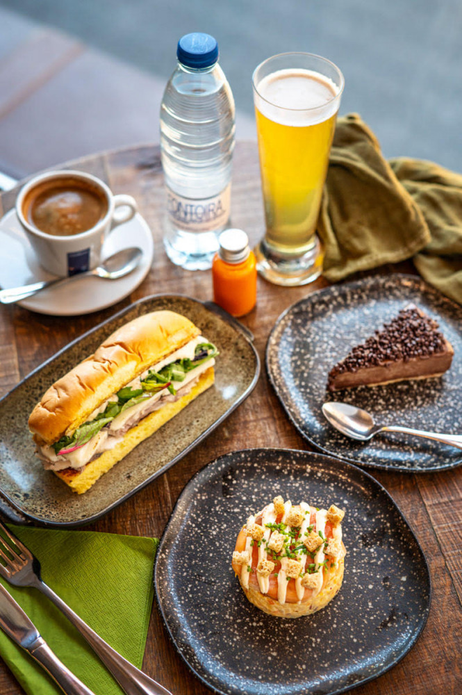
[[[343,586],[295,620],[249,603],[231,569],[242,523],[277,494],[346,510]],[[154,577],[179,653],[226,695],[333,695],[377,678],[415,644],[430,607],[422,549],[381,484],[338,459],[287,449],[233,452],[199,471],[176,503]]]

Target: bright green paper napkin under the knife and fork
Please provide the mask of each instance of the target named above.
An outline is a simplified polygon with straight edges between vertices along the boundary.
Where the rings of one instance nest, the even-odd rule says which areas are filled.
[[[91,628],[141,667],[153,599],[157,539],[92,531],[10,526],[38,557],[42,579]],[[95,695],[123,694],[99,657],[37,589],[12,587],[17,603],[58,655]],[[63,695],[47,673],[0,630],[0,655],[30,695]]]

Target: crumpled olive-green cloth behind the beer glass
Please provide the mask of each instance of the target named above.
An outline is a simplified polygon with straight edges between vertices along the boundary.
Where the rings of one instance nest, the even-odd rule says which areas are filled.
[[[331,282],[412,259],[462,303],[462,175],[417,159],[386,161],[357,114],[338,119],[317,231]]]

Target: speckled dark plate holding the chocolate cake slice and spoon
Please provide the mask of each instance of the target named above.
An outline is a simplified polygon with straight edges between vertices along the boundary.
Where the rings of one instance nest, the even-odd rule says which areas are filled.
[[[327,391],[327,375],[354,345],[413,302],[435,318],[454,347],[452,366],[439,379]],[[297,430],[321,451],[345,461],[411,473],[440,471],[462,463],[451,446],[403,434],[359,442],[327,423],[322,404],[352,403],[376,423],[462,434],[462,307],[418,277],[377,275],[315,292],[277,320],[268,339],[270,381]]]

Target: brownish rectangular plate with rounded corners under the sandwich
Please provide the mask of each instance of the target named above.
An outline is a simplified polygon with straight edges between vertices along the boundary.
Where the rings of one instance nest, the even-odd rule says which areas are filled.
[[[85,494],[73,493],[35,456],[28,416],[44,391],[92,354],[124,323],[170,309],[197,325],[220,356],[215,384],[140,443]],[[15,523],[69,528],[90,523],[173,466],[220,425],[256,385],[260,373],[251,334],[213,304],[181,295],[154,295],[131,304],[69,343],[0,400],[0,512]]]

